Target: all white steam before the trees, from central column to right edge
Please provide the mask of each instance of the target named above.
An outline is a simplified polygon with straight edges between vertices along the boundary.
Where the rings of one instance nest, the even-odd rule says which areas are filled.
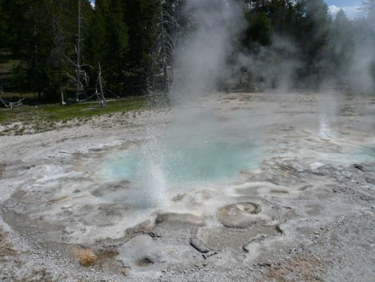
[[[293,87],[336,87],[350,85],[362,91],[374,87],[375,28],[374,18],[357,19],[352,24],[348,68],[341,72],[334,66],[328,53],[319,58],[321,75],[304,78],[303,51],[291,38],[274,34],[270,46],[259,46],[258,51],[244,51],[239,47],[241,33],[246,29],[242,1],[188,0],[184,15],[189,17],[189,32],[180,40],[175,51],[174,82],[170,91],[177,100],[194,100],[210,90],[217,90],[218,82],[235,80],[237,88],[276,89],[281,92]],[[345,29],[345,27],[342,27]],[[341,32],[341,31],[340,31]],[[329,35],[326,47],[342,49],[343,42]],[[326,51],[324,47],[324,51]],[[228,59],[230,58],[230,63]]]

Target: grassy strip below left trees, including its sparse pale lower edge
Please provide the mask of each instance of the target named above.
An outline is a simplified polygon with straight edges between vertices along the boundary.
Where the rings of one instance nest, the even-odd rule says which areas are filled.
[[[94,116],[127,113],[151,107],[148,97],[129,97],[108,102],[100,108],[98,102],[84,104],[42,104],[38,106],[21,106],[14,109],[0,108],[0,125],[6,128],[0,135],[22,135],[30,132],[53,130],[56,124],[67,124],[68,121],[87,121]]]

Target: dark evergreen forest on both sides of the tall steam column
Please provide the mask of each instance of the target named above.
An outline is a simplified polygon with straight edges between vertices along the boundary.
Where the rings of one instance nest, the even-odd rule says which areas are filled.
[[[243,7],[217,90],[374,90],[375,1],[364,18],[323,0],[231,0]],[[229,1],[229,2],[231,2]],[[1,92],[39,102],[167,92],[175,49],[194,30],[185,0],[0,0]],[[366,74],[364,74],[366,73]],[[101,88],[102,90],[98,90]]]

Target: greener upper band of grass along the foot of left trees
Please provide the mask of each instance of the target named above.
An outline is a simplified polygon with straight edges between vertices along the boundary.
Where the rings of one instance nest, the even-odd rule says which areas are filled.
[[[76,118],[84,119],[105,114],[126,113],[127,111],[145,109],[150,106],[150,104],[150,99],[148,97],[129,97],[108,102],[105,108],[98,107],[98,102],[65,106],[59,104],[45,104],[39,106],[21,106],[14,109],[1,108],[0,124],[14,122],[21,122],[24,125],[37,124],[40,122],[53,124],[59,121],[65,122]]]

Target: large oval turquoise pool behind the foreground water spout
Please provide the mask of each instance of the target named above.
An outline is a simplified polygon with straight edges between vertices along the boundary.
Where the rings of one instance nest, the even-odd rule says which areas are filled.
[[[113,180],[146,185],[203,185],[233,180],[260,165],[265,150],[241,139],[182,140],[133,147],[104,164]]]

